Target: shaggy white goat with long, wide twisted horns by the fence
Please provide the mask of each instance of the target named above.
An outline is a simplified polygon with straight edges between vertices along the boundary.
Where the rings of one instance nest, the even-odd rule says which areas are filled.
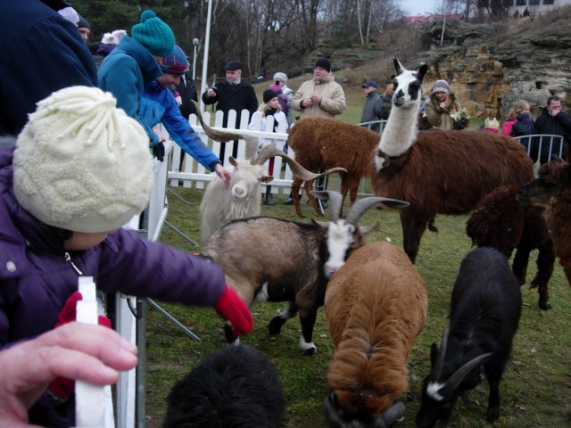
[[[200,204],[200,227],[202,242],[221,226],[238,218],[250,218],[260,215],[261,208],[261,183],[269,183],[274,177],[264,172],[264,162],[274,156],[281,156],[287,162],[294,176],[302,181],[315,180],[327,176],[332,172],[347,172],[343,168],[332,168],[321,174],[314,174],[304,169],[293,158],[287,156],[277,147],[268,145],[256,155],[259,139],[253,136],[219,132],[203,122],[200,109],[197,108],[197,117],[203,126],[204,132],[213,140],[226,143],[231,140],[244,139],[246,141],[246,157],[236,160],[230,156],[230,164],[234,167],[229,189],[227,189],[219,177],[214,177],[206,187],[203,201]]]

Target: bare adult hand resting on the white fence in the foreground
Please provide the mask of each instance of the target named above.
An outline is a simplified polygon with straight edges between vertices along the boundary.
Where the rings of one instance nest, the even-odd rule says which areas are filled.
[[[110,328],[68,323],[0,351],[0,421],[29,427],[28,409],[56,376],[96,385],[137,366],[137,347]]]

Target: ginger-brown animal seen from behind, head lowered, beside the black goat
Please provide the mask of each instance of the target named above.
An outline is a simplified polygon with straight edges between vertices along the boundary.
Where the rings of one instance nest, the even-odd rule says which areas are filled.
[[[331,277],[325,312],[335,356],[324,403],[331,426],[384,427],[401,416],[394,401],[408,388],[406,361],[427,307],[424,280],[390,243],[360,248]]]

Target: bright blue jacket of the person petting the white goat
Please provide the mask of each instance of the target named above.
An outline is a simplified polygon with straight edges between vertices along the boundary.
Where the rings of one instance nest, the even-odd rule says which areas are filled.
[[[182,117],[177,101],[169,89],[153,80],[145,87],[141,98],[140,116],[149,128],[161,122],[172,138],[186,153],[213,171],[218,157],[203,143],[188,120]]]

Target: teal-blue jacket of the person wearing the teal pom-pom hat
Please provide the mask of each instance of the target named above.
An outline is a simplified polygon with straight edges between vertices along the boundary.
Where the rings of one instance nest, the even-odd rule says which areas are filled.
[[[97,72],[97,85],[117,98],[117,107],[145,128],[151,145],[159,143],[152,128],[141,116],[140,103],[145,86],[162,75],[153,55],[132,37],[123,36],[107,55]]]

